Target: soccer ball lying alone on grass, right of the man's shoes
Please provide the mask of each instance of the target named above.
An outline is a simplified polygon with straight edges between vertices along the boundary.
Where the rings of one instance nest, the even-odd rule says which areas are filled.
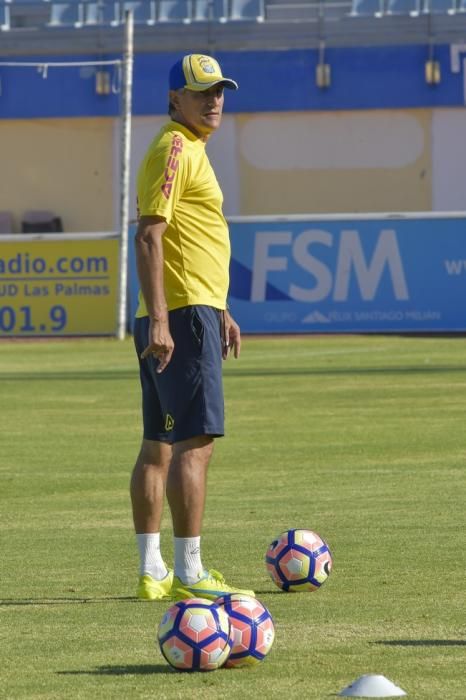
[[[312,530],[287,530],[270,544],[265,565],[283,591],[315,591],[330,575],[332,555],[327,543]]]

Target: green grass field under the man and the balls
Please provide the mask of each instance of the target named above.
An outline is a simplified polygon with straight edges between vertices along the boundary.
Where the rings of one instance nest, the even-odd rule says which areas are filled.
[[[0,343],[0,697],[335,697],[383,674],[466,698],[466,351],[462,338],[244,338],[203,560],[276,625],[253,669],[183,674],[155,643],[167,603],[133,598],[128,482],[139,447],[131,341]],[[269,542],[308,527],[334,570],[274,588]],[[171,562],[168,510],[163,547]]]

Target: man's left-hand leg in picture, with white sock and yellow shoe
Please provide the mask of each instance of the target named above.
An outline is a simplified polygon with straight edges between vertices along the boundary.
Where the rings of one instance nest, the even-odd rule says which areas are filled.
[[[139,598],[155,600],[167,596],[172,574],[160,553],[160,523],[165,485],[172,456],[171,445],[143,440],[131,476],[133,521],[140,558]]]

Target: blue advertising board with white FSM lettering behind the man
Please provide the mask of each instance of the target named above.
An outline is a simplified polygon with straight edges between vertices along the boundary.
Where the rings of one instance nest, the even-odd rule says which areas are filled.
[[[466,331],[466,214],[229,224],[229,303],[244,333]]]

